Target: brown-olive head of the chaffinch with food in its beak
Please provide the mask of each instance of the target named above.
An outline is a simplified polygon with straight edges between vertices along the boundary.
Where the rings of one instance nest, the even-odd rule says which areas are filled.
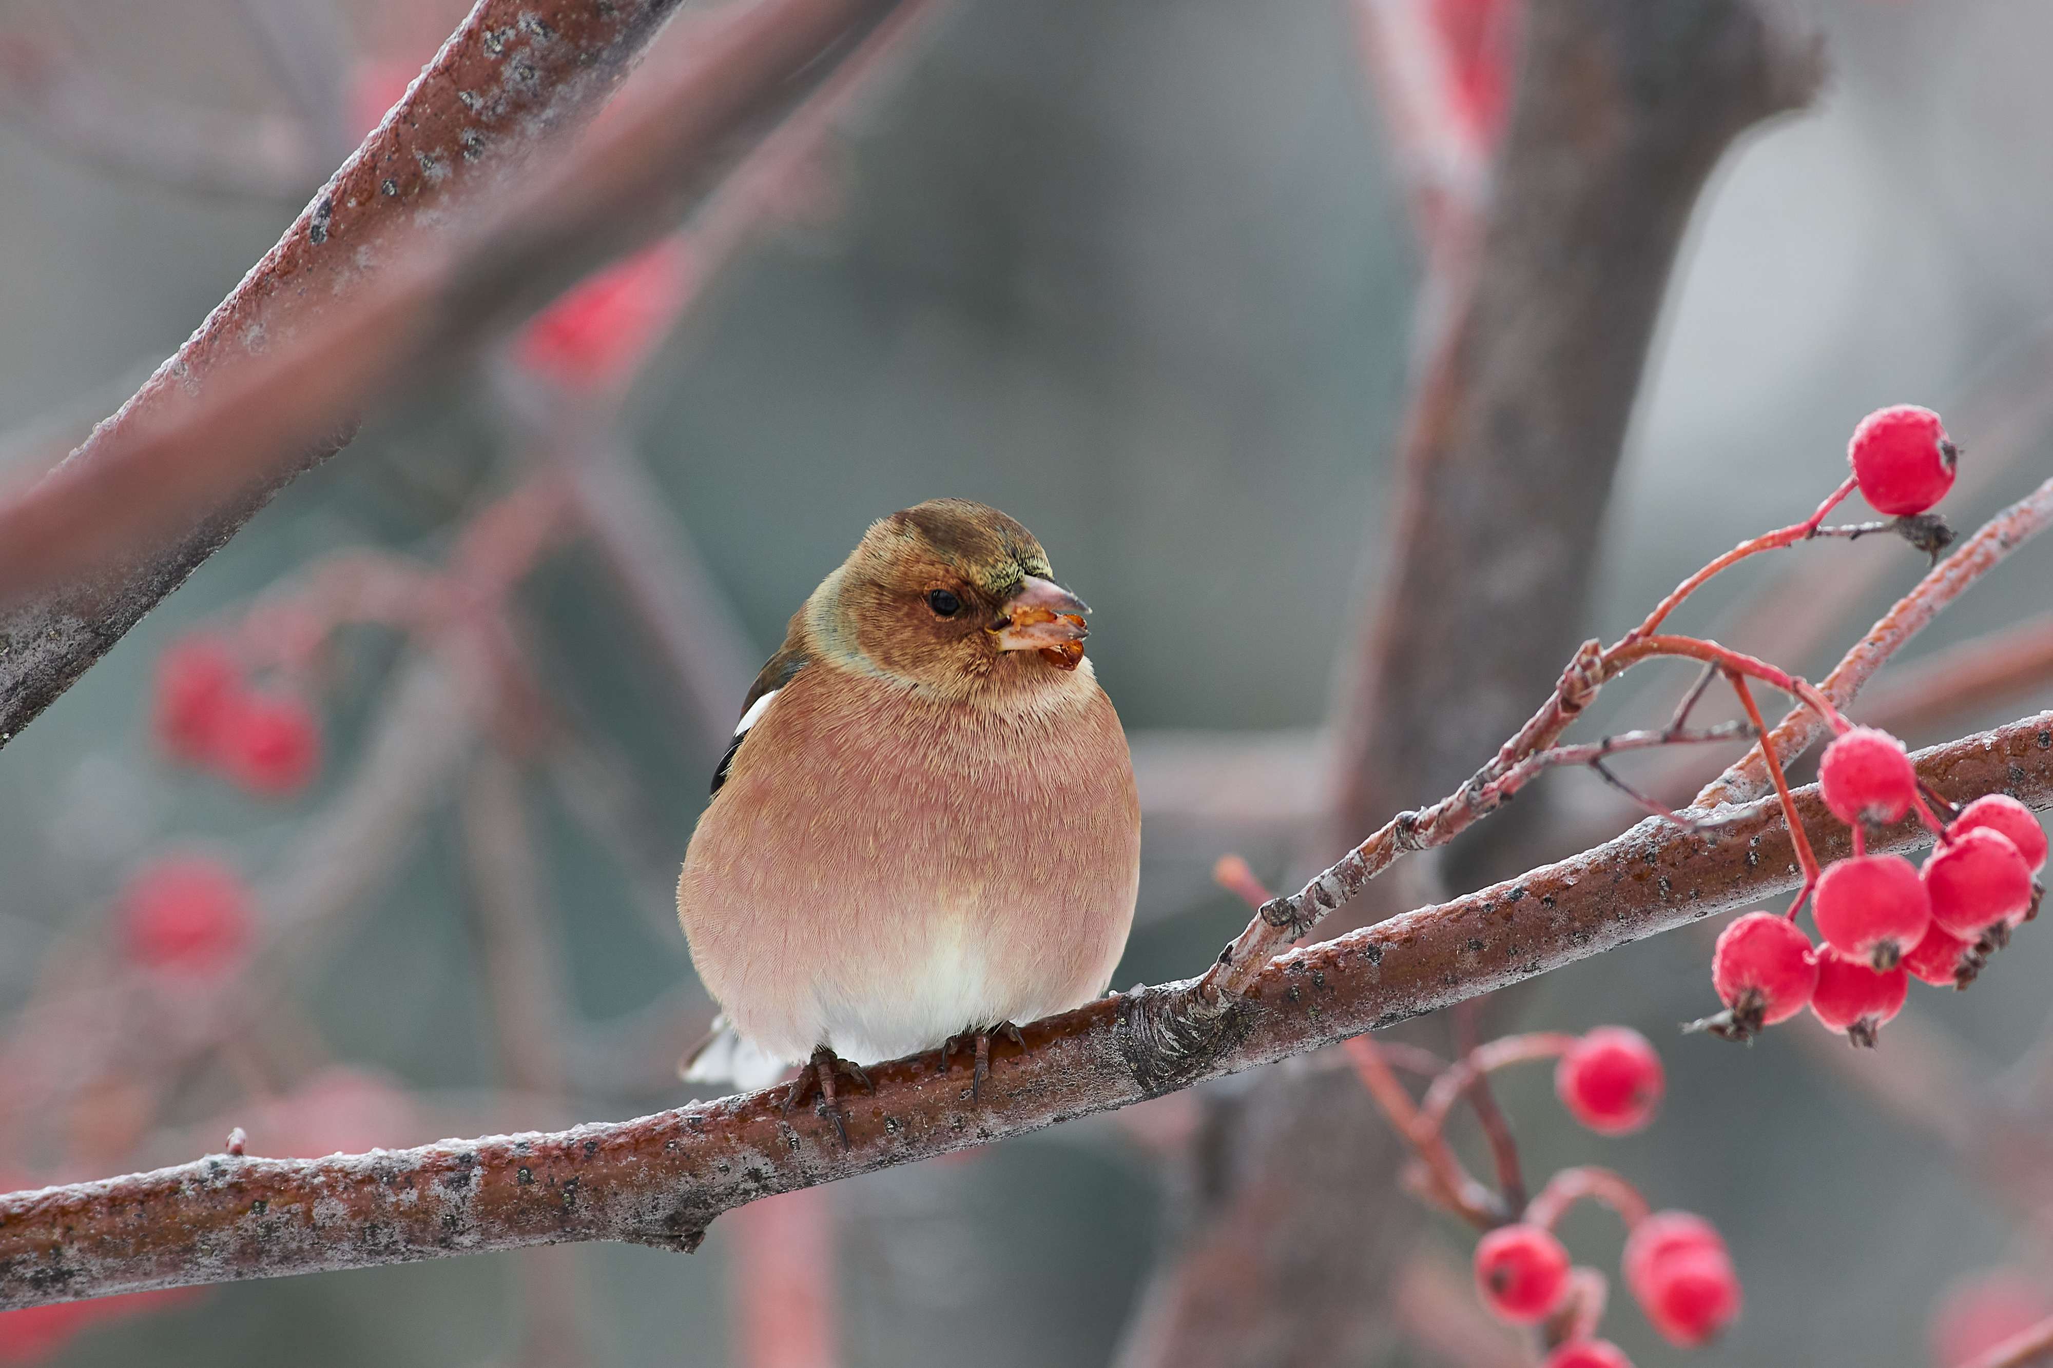
[[[848,665],[973,695],[1074,671],[1088,611],[1031,531],[998,509],[932,498],[873,523],[807,623]]]

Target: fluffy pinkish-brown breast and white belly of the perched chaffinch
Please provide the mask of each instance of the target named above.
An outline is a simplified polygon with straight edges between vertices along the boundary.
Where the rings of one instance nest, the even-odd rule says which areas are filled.
[[[790,1058],[821,1042],[881,1058],[1105,989],[1139,804],[1111,701],[1088,671],[1059,679],[1008,714],[827,671],[786,685],[677,892],[743,1034]]]

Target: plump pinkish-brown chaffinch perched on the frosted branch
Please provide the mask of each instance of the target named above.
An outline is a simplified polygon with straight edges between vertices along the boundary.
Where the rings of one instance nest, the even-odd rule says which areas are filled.
[[[1090,609],[998,509],[879,519],[741,703],[677,878],[721,1017],[700,1083],[971,1050],[1105,995],[1139,892],[1139,796],[1084,658]]]

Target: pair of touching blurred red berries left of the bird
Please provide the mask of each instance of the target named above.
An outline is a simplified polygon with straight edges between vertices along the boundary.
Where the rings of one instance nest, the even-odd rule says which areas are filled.
[[[287,798],[320,769],[320,722],[304,699],[250,687],[211,636],[158,658],[152,730],[177,761],[211,769],[261,798]]]

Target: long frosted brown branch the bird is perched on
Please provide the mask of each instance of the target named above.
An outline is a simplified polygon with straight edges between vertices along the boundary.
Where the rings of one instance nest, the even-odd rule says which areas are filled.
[[[2053,806],[2053,712],[1918,753],[1954,802],[2010,792]],[[1846,829],[1796,796],[1823,857]],[[1915,822],[1876,849],[1926,839]],[[981,1101],[934,1054],[870,1069],[844,1097],[850,1144],[780,1091],[554,1134],[446,1140],[318,1161],[216,1155],[172,1169],[0,1198],[0,1306],[142,1288],[616,1239],[694,1249],[725,1210],[1125,1108],[1404,1021],[1562,964],[1747,907],[1796,884],[1774,802],[1704,831],[1640,822],[1573,859],[1310,945],[1213,1011],[1197,982],[1135,989],[1002,1042]]]

